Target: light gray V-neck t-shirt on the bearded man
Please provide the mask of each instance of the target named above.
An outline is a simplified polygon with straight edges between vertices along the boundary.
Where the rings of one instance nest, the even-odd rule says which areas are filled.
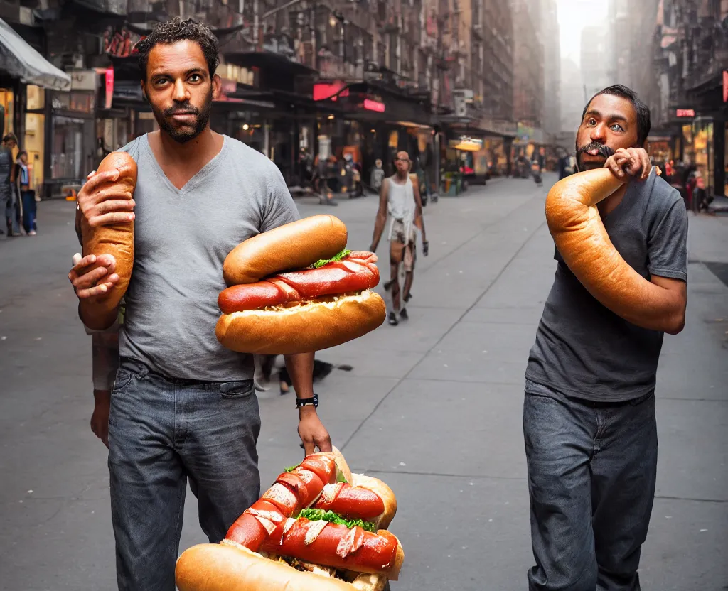
[[[253,378],[253,357],[215,338],[223,261],[243,240],[299,218],[276,165],[223,137],[220,153],[181,190],[162,172],[146,135],[121,149],[137,162],[138,178],[119,357],[172,378]]]

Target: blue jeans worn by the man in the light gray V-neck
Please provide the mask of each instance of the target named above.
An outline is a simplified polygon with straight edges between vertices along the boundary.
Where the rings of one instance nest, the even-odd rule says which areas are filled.
[[[179,380],[121,361],[108,419],[119,590],[175,590],[188,479],[211,543],[258,499],[260,427],[252,380]]]

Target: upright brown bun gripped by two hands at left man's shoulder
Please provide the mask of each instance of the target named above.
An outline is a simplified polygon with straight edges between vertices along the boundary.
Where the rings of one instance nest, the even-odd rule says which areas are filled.
[[[114,183],[108,183],[102,189],[114,185],[119,186],[122,191],[127,193],[127,199],[131,199],[137,181],[136,162],[127,152],[111,152],[101,161],[97,172],[108,172],[114,169],[119,170],[119,178]],[[134,266],[134,222],[92,228],[83,215],[80,218],[83,255],[108,254],[113,255],[116,259],[116,271],[114,272],[119,275],[119,281],[98,304],[103,306],[106,312],[113,312],[119,306],[119,302],[122,301],[132,276],[132,266]],[[100,265],[97,264],[93,268],[95,269],[98,266]]]

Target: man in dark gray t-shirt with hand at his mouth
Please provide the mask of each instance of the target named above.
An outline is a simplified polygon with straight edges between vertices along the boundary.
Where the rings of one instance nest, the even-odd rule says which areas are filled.
[[[617,85],[590,100],[577,132],[580,171],[608,167],[628,181],[598,210],[622,258],[661,288],[662,314],[657,326],[622,319],[555,253],[523,404],[531,591],[640,589],[657,472],[657,362],[687,302],[687,214],[650,165],[649,129],[649,109]]]

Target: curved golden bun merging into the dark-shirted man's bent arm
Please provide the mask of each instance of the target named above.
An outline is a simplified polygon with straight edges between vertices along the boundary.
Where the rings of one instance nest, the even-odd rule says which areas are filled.
[[[596,205],[623,183],[608,168],[566,177],[549,191],[546,220],[558,252],[579,282],[614,314],[634,321],[649,314],[661,288],[622,258],[601,221]]]

